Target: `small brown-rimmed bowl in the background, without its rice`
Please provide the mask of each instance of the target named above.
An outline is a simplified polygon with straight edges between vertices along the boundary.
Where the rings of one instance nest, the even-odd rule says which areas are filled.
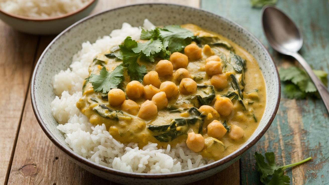
[[[34,18],[11,14],[0,9],[0,19],[18,31],[36,34],[53,35],[59,34],[64,29],[88,16],[95,8],[98,0],[91,0],[86,6],[61,16],[48,18]]]

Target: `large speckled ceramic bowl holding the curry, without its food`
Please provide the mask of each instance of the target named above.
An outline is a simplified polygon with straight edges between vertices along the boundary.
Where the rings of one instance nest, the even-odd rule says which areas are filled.
[[[193,23],[204,29],[219,33],[245,48],[258,61],[266,81],[266,109],[255,133],[243,146],[232,154],[212,164],[169,174],[140,174],[123,172],[93,163],[74,153],[56,128],[58,123],[50,110],[55,98],[51,86],[52,77],[69,67],[72,55],[81,49],[85,41],[95,42],[99,36],[108,35],[113,29],[121,28],[123,22],[133,26],[143,24],[148,18],[156,25]],[[123,184],[185,184],[206,178],[239,160],[254,145],[271,125],[280,101],[280,80],[275,64],[266,48],[245,28],[213,13],[171,4],[137,4],[120,7],[86,17],[57,36],[41,55],[35,68],[31,98],[40,126],[51,141],[71,160],[82,168],[114,182]]]

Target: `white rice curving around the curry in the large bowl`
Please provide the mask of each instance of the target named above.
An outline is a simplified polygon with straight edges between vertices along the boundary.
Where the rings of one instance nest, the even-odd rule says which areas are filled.
[[[145,29],[154,25],[147,19]],[[117,46],[127,37],[138,40],[141,28],[123,23],[122,29],[114,30],[110,36],[98,39],[94,44],[82,44],[82,50],[73,56],[70,68],[61,71],[53,79],[54,93],[57,95],[51,103],[52,114],[60,123],[58,129],[63,132],[65,142],[77,154],[110,168],[140,173],[170,173],[204,166],[213,162],[190,151],[185,143],[166,149],[149,143],[140,149],[136,143],[124,145],[113,139],[105,125],[94,126],[80,113],[75,103],[82,96],[83,80],[88,77],[88,67],[93,58]]]

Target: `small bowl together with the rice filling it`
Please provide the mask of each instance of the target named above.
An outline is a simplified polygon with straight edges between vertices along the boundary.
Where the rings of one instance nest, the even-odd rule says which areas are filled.
[[[52,35],[88,16],[98,0],[1,0],[0,19],[14,29]]]

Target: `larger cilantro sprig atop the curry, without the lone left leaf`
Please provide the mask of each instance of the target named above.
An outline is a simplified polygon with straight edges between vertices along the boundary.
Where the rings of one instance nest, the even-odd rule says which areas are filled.
[[[154,62],[155,57],[168,59],[170,52],[181,51],[191,43],[194,34],[178,25],[155,28],[154,30],[141,31],[140,38],[146,42],[136,42],[127,37],[119,45],[120,52],[117,57],[122,60],[123,66],[127,67],[131,80],[143,81],[147,73],[145,65],[139,65],[139,60]]]

